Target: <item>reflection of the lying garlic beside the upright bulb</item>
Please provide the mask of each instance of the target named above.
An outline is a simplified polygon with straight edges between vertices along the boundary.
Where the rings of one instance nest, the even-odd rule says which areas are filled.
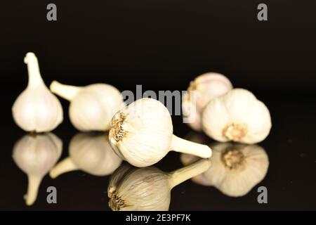
[[[69,154],[51,169],[52,178],[77,169],[95,176],[106,176],[121,164],[121,158],[112,150],[107,134],[77,134],[70,141]]]

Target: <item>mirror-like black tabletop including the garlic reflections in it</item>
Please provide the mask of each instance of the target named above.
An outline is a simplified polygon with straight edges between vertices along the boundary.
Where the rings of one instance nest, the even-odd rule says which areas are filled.
[[[79,133],[67,117],[51,134],[26,134],[7,112],[6,120],[1,122],[0,210],[110,210],[109,202],[118,209],[124,203],[114,196],[117,192],[138,203],[146,201],[147,205],[148,199],[156,199],[150,207],[158,210],[316,210],[314,96],[259,93],[258,98],[270,109],[272,129],[268,138],[256,146],[216,143],[193,132],[181,117],[172,117],[174,134],[213,149],[211,167],[202,175],[178,182],[172,190],[159,188],[162,184],[154,178],[168,180],[172,172],[183,167],[197,169],[204,166],[203,162],[170,152],[156,165],[138,169],[111,152],[107,134]],[[10,101],[5,104],[11,107]],[[32,164],[32,157],[27,157],[34,155],[34,148],[41,149],[41,157]],[[242,165],[248,167],[246,174],[238,170],[226,174],[223,157],[234,149],[247,151],[252,157],[248,165]],[[28,162],[23,161],[25,158]],[[28,180],[21,169],[37,174],[37,178],[43,176],[41,181],[29,176],[34,184],[39,183],[33,200],[31,194],[24,198]],[[52,187],[57,203],[50,204]],[[144,190],[152,191],[150,198]]]

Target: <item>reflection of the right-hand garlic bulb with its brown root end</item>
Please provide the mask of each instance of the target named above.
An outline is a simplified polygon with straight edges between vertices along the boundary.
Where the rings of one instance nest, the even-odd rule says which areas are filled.
[[[239,197],[251,191],[268,171],[268,155],[260,146],[216,143],[212,149],[210,169],[192,178],[197,184],[215,186],[225,195]],[[181,155],[183,165],[195,160],[192,155]]]

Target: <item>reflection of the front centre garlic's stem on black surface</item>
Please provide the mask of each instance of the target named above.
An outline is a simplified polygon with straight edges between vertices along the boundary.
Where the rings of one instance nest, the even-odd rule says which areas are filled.
[[[169,173],[169,184],[170,188],[174,188],[178,184],[181,184],[183,181],[197,176],[205,172],[211,166],[210,160],[199,160],[191,165],[177,169],[176,171]]]

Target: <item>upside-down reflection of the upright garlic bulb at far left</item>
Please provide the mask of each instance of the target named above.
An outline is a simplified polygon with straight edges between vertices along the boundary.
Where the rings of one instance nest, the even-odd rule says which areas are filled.
[[[27,134],[15,143],[13,160],[27,174],[28,187],[24,196],[33,205],[41,180],[55,165],[62,153],[62,141],[55,134]]]

